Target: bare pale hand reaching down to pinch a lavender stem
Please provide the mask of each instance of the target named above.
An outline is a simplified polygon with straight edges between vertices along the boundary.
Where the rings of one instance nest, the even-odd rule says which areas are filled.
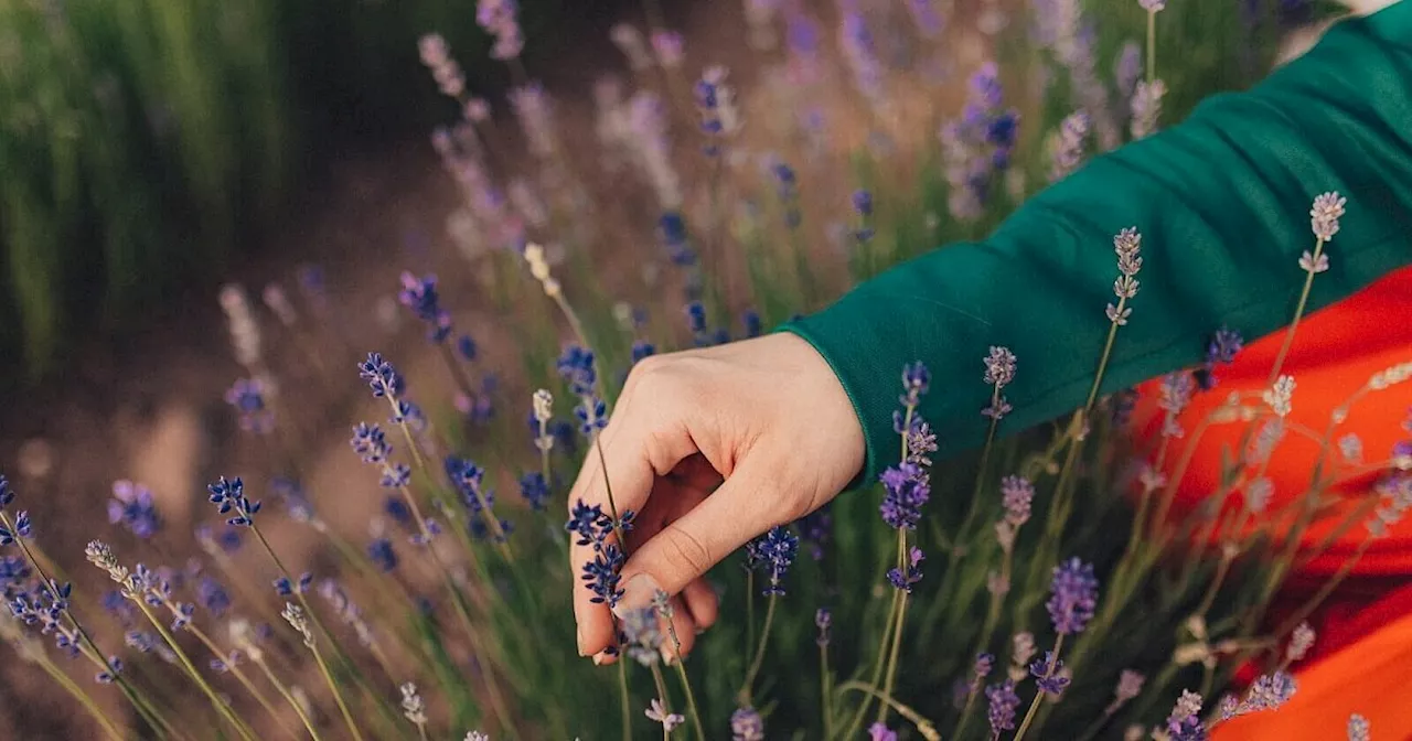
[[[674,597],[682,652],[716,621],[703,574],[775,525],[830,501],[863,467],[863,428],[833,370],[788,333],[654,356],[627,378],[600,436],[617,511],[637,511],[627,535],[617,611]],[[717,488],[719,487],[719,488]],[[599,452],[569,493],[609,512]],[[613,617],[578,579],[592,560],[575,546],[579,653],[610,661]],[[671,658],[672,646],[664,646]]]

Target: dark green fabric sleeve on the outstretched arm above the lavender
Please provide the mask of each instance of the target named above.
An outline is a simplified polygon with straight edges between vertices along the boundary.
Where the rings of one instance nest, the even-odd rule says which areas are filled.
[[[1334,27],[1257,88],[1211,97],[1156,135],[1099,157],[980,243],[935,250],[784,329],[812,343],[853,399],[863,480],[897,462],[905,363],[932,371],[921,414],[940,453],[980,445],[981,357],[1018,356],[1005,388],[1015,432],[1083,405],[1108,332],[1113,236],[1142,234],[1103,392],[1202,360],[1221,325],[1254,337],[1288,323],[1313,248],[1313,198],[1348,199],[1310,311],[1412,263],[1412,0]]]

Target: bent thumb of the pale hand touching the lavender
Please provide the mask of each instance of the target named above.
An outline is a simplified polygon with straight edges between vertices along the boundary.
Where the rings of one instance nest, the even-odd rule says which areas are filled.
[[[675,596],[740,546],[782,521],[785,507],[770,466],[743,460],[695,510],[644,542],[623,566],[614,613],[641,610],[662,590]]]

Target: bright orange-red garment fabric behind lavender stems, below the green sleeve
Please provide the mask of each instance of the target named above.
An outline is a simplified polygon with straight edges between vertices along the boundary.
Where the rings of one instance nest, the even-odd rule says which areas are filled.
[[[1264,390],[1284,337],[1284,330],[1261,337],[1247,344],[1236,363],[1217,368],[1219,385],[1193,398],[1182,415],[1182,428],[1190,433],[1233,391]],[[1374,373],[1409,360],[1412,268],[1404,268],[1300,322],[1282,371],[1296,381],[1293,411],[1288,421],[1322,435],[1330,412]],[[1154,409],[1156,384],[1152,381],[1141,390],[1139,409],[1148,414],[1139,425],[1147,435],[1155,435],[1161,425]],[[1394,443],[1412,438],[1406,426],[1409,416],[1412,382],[1405,382],[1363,398],[1334,438],[1356,432],[1363,440],[1365,462],[1387,460]],[[1217,488],[1221,450],[1241,454],[1243,432],[1243,423],[1207,428],[1178,487],[1173,514],[1190,512]],[[1176,442],[1175,450],[1180,452],[1189,440]],[[1317,450],[1317,445],[1308,438],[1285,435],[1267,471],[1274,483],[1267,512],[1278,512],[1303,495]],[[1172,454],[1169,460],[1176,457]],[[1339,459],[1337,450],[1332,457]],[[1168,473],[1172,473],[1172,466],[1168,466]],[[1289,608],[1303,604],[1363,542],[1367,517],[1360,512],[1371,512],[1367,505],[1374,495],[1372,480],[1371,474],[1351,480],[1333,493],[1337,504],[1308,531],[1302,543],[1317,545],[1348,517],[1354,517],[1357,524],[1293,574],[1282,600],[1274,606],[1276,614],[1286,611],[1285,604]],[[1227,504],[1237,504],[1240,497],[1234,493]],[[1299,669],[1295,701],[1274,714],[1217,727],[1217,741],[1341,740],[1346,738],[1344,728],[1351,713],[1370,718],[1372,737],[1378,741],[1412,740],[1412,701],[1408,700],[1408,692],[1412,692],[1412,518],[1377,541],[1354,566],[1346,584],[1316,615],[1316,659]]]

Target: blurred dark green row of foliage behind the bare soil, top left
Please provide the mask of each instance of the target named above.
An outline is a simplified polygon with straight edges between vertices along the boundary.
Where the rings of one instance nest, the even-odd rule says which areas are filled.
[[[525,64],[573,83],[542,62],[609,51],[623,6],[525,1]],[[496,97],[472,0],[0,3],[0,390],[209,299],[347,185],[340,164],[425,144],[455,112],[417,58],[432,30]]]

